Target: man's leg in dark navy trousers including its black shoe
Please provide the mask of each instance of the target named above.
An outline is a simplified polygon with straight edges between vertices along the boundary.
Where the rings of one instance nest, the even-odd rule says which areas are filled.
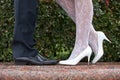
[[[15,28],[13,37],[13,57],[19,65],[50,65],[57,60],[48,60],[34,48],[34,29],[37,20],[38,0],[14,0]]]

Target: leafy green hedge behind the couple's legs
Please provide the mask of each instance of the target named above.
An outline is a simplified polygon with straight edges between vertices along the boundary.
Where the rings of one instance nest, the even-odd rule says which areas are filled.
[[[105,42],[101,61],[120,61],[120,1],[94,0],[96,30],[103,31],[112,43]],[[0,61],[12,61],[14,28],[13,0],[0,0]],[[36,48],[48,58],[66,59],[74,46],[75,24],[54,2],[41,2],[35,32]]]

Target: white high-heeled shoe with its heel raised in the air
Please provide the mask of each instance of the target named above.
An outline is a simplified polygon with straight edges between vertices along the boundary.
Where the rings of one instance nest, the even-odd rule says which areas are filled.
[[[101,31],[97,31],[98,35],[98,53],[96,53],[95,58],[93,59],[92,63],[96,63],[104,54],[103,51],[103,40],[107,40],[111,43],[111,41],[105,36],[105,34]]]

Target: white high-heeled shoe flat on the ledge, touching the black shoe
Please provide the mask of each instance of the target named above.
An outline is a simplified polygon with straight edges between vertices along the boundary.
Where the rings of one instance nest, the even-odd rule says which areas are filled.
[[[63,64],[63,65],[76,65],[79,63],[79,61],[81,61],[84,57],[88,57],[88,65],[89,65],[89,61],[90,61],[90,57],[92,54],[92,49],[90,46],[88,46],[82,53],[80,53],[76,58],[74,59],[70,59],[70,60],[63,60],[60,61],[59,64]]]

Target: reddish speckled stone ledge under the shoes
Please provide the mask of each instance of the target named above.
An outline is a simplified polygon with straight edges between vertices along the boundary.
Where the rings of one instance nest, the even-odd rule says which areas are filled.
[[[120,80],[120,62],[77,66],[0,63],[0,80]]]

